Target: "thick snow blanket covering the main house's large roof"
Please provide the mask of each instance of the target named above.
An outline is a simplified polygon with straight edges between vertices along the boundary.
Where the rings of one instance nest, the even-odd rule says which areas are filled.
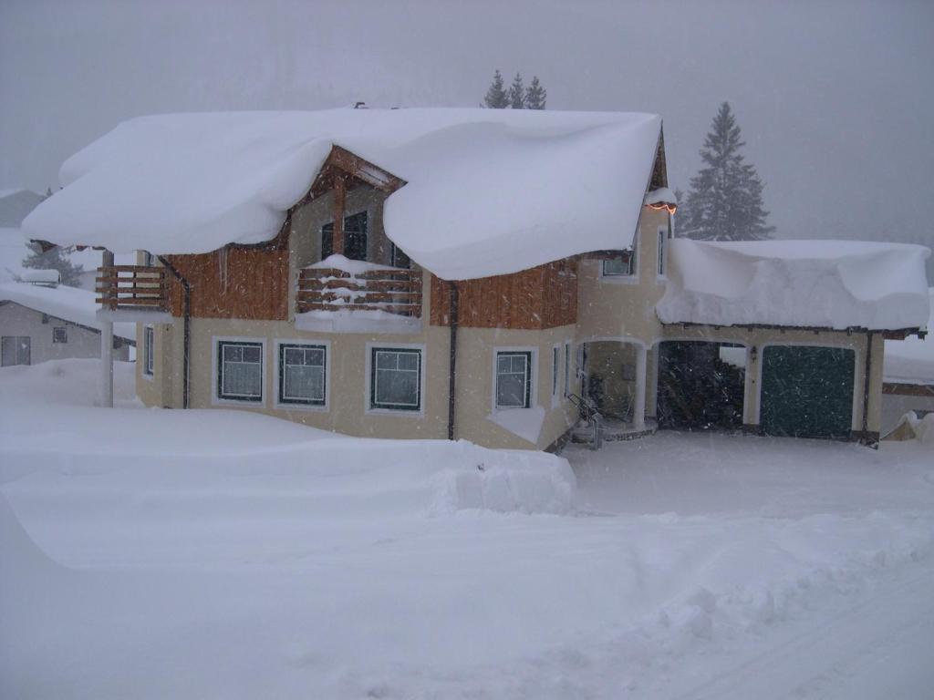
[[[333,145],[407,184],[387,235],[446,279],[631,245],[656,115],[333,109],[144,117],[65,161],[26,235],[115,252],[203,253],[276,236]]]

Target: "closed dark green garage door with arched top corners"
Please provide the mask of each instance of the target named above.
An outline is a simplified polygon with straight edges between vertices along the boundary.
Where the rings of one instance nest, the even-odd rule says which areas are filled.
[[[759,422],[766,435],[848,438],[856,354],[838,347],[773,345],[762,354]]]

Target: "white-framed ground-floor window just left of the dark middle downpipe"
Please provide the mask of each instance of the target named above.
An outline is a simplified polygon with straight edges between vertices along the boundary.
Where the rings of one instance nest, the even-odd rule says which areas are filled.
[[[369,410],[421,413],[424,347],[368,344],[367,351]]]

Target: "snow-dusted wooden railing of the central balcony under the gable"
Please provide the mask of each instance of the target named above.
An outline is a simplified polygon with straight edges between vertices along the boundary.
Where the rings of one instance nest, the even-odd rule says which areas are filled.
[[[347,273],[333,268],[299,271],[295,311],[384,311],[421,316],[421,272],[382,268]]]

